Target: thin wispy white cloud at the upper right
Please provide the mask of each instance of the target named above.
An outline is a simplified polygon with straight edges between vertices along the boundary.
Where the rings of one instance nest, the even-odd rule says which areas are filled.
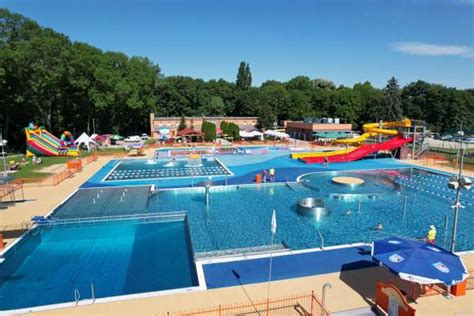
[[[436,45],[422,42],[393,43],[392,49],[409,55],[458,56],[474,58],[474,49],[465,45]]]

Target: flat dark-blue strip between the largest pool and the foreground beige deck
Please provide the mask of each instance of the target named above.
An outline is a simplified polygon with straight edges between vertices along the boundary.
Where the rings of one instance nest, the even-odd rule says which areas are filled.
[[[274,256],[273,281],[373,267],[369,246]],[[268,281],[270,258],[204,264],[208,289]]]

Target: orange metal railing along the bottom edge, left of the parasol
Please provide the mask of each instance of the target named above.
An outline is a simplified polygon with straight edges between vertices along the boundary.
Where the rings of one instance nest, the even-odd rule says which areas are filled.
[[[201,308],[177,313],[167,313],[174,316],[223,316],[223,315],[329,315],[329,311],[321,306],[314,292],[291,295],[280,298],[261,299],[240,304],[219,305],[211,308]]]

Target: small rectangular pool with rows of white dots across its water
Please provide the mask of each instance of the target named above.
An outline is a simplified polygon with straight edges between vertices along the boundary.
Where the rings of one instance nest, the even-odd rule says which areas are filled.
[[[198,164],[187,159],[122,160],[104,181],[192,178],[232,175],[218,159],[203,158]]]

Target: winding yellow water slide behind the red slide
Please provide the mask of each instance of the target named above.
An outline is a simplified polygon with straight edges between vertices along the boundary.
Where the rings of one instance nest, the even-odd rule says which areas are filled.
[[[382,122],[382,123],[368,123],[362,126],[364,130],[364,134],[359,137],[354,138],[344,138],[338,139],[335,143],[338,144],[347,144],[347,145],[358,145],[363,143],[369,137],[375,137],[379,134],[387,135],[387,136],[395,136],[398,134],[396,129],[387,129],[387,128],[394,128],[394,127],[410,127],[411,121],[409,119],[404,119],[402,121],[396,122]],[[345,148],[333,151],[325,151],[325,152],[302,152],[302,153],[294,153],[291,154],[291,158],[299,159],[299,158],[306,158],[306,157],[331,157],[341,154],[347,154],[351,151],[355,150],[357,147],[352,148]]]

